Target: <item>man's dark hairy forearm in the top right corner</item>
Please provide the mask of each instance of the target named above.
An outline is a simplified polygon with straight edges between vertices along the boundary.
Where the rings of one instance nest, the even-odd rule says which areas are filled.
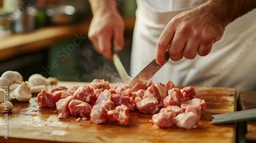
[[[202,7],[225,26],[256,8],[256,0],[209,0]]]

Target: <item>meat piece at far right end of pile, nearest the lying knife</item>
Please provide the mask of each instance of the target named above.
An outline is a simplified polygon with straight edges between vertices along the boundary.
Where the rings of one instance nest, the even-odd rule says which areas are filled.
[[[206,103],[204,100],[195,98],[181,103],[181,109],[185,112],[194,111],[198,115],[203,115],[205,112]],[[201,110],[200,110],[201,109]],[[186,111],[188,110],[188,111]],[[201,113],[201,114],[200,114]]]

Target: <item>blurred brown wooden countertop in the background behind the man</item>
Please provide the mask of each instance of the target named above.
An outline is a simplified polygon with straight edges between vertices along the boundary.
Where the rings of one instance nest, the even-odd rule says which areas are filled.
[[[35,52],[52,44],[77,35],[88,35],[91,18],[68,26],[53,26],[35,30],[31,33],[14,34],[0,39],[0,61],[26,53]],[[124,17],[125,30],[132,31],[135,18]]]

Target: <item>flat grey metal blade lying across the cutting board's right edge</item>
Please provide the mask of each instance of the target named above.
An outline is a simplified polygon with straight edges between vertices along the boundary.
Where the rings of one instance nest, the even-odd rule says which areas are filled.
[[[210,123],[215,125],[236,123],[240,121],[256,120],[256,109],[249,109],[225,114],[212,115],[214,117]]]

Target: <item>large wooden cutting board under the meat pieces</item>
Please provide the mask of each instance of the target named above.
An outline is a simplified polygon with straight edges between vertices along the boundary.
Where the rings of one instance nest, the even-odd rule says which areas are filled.
[[[88,83],[58,84],[72,87]],[[90,118],[77,122],[74,116],[58,120],[55,108],[39,108],[36,96],[33,96],[29,102],[13,101],[14,109],[8,113],[10,141],[4,138],[5,116],[0,115],[0,142],[235,142],[234,124],[215,126],[209,122],[214,114],[236,111],[236,90],[217,87],[195,87],[195,90],[197,97],[206,101],[205,114],[201,116],[196,129],[159,129],[153,126],[152,114],[145,115],[138,111],[130,111],[127,126],[114,123],[96,125],[92,124]]]

